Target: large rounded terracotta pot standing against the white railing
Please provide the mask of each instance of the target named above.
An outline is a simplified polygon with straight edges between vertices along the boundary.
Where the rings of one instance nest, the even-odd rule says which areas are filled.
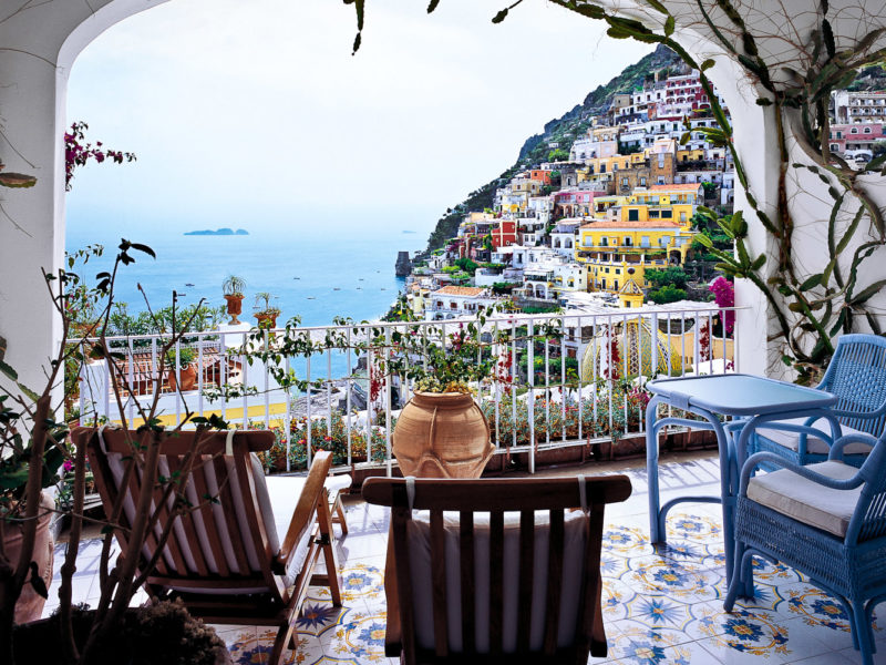
[[[416,392],[392,439],[403,475],[420,478],[480,478],[494,451],[483,411],[462,392]]]

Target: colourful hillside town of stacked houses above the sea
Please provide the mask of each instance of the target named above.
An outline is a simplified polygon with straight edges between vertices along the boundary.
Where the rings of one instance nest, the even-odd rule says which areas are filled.
[[[886,93],[838,91],[831,112],[831,150],[870,160]],[[694,238],[732,244],[697,213],[730,215],[735,176],[730,152],[707,139],[717,121],[698,71],[657,72],[584,121],[570,144],[548,141],[548,161],[502,183],[492,207],[465,211],[443,247],[411,266],[406,257],[405,269],[401,256],[409,316],[451,319],[503,301],[532,314],[691,309],[713,298],[717,259]]]

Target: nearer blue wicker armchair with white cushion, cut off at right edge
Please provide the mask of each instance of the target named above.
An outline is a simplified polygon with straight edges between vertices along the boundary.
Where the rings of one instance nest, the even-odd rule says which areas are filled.
[[[847,446],[873,447],[861,469]],[[761,463],[781,467],[754,477]],[[843,605],[855,648],[872,665],[874,606],[886,600],[886,434],[842,437],[825,462],[801,467],[759,452],[742,468],[735,507],[735,557],[724,607],[752,581],[751,557],[781,561]]]

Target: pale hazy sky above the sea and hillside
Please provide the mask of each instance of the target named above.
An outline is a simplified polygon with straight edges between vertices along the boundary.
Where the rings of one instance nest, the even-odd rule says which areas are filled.
[[[523,141],[650,49],[543,0],[172,0],[78,59],[69,123],[135,152],[81,170],[73,225],[339,219],[426,233]]]

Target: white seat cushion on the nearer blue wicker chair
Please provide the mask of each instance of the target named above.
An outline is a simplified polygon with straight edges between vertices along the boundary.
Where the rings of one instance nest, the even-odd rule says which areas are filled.
[[[847,480],[858,472],[836,460],[806,467],[833,480]],[[832,490],[787,469],[752,478],[748,498],[799,522],[838,535],[846,535],[862,488]]]

